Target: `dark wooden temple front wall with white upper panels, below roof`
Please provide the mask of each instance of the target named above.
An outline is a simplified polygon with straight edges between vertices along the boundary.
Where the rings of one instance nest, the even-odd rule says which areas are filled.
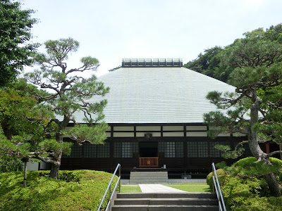
[[[64,157],[61,170],[90,169],[112,172],[121,163],[123,172],[140,169],[168,172],[207,173],[212,162],[220,162],[218,143],[235,146],[244,136],[207,136],[204,124],[110,124],[104,145],[74,144]],[[250,155],[249,151],[245,156]],[[227,160],[229,163],[234,160]]]

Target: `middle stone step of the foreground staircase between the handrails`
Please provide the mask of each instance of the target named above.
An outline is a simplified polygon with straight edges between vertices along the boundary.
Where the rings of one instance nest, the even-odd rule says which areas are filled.
[[[116,198],[115,205],[218,205],[216,198]]]

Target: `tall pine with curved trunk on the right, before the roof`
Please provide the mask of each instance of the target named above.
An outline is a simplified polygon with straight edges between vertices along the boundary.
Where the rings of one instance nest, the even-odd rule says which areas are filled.
[[[228,158],[243,153],[243,144],[248,143],[257,162],[271,165],[269,157],[281,151],[264,153],[259,143],[276,141],[281,143],[282,133],[282,46],[264,39],[261,30],[247,32],[244,39],[237,39],[222,54],[225,65],[235,68],[230,83],[235,93],[210,92],[209,101],[218,108],[226,109],[204,115],[212,128],[209,136],[219,133],[245,134],[247,141],[238,144],[235,150],[229,146],[218,146]],[[273,172],[264,175],[271,193],[281,196],[278,181]]]

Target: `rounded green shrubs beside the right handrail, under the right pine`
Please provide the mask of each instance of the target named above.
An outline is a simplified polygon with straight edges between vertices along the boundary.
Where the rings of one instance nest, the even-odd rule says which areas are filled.
[[[216,170],[228,210],[282,210],[282,197],[270,197],[268,185],[262,177],[274,172],[281,181],[282,161],[276,158],[269,160],[272,166],[255,162],[256,158],[243,158],[231,167],[223,167],[225,171]],[[211,186],[212,173],[208,175],[207,183]]]

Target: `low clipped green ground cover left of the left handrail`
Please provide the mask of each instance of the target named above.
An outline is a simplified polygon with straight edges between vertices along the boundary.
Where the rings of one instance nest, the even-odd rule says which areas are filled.
[[[97,210],[112,174],[91,170],[60,171],[61,179],[48,171],[0,174],[0,210]],[[104,203],[105,207],[106,203]]]

